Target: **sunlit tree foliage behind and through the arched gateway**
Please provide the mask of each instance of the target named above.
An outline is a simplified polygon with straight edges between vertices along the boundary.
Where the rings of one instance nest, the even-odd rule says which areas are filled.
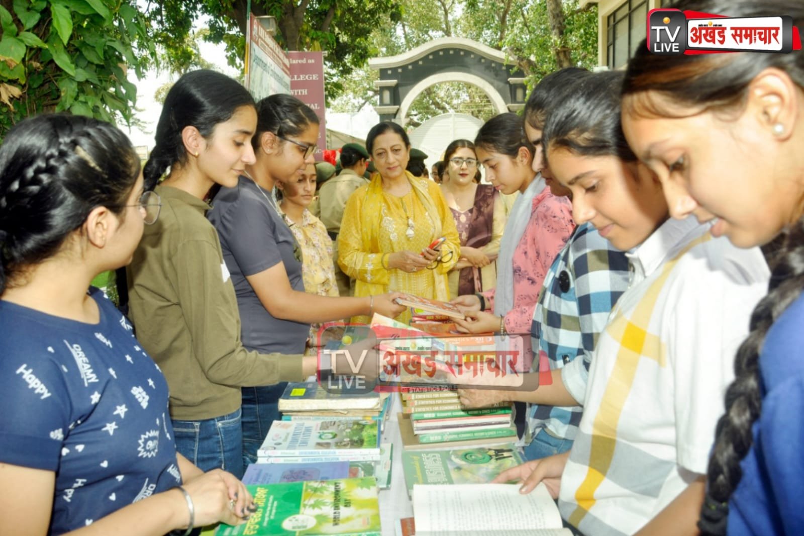
[[[580,9],[577,0],[402,0],[399,19],[386,20],[371,35],[371,42],[376,56],[394,56],[445,36],[466,37],[502,50],[533,87],[560,67],[597,64],[597,4]],[[343,97],[330,102],[330,109],[355,111],[375,102],[376,78],[367,66],[356,70],[343,81]],[[425,89],[413,101],[408,125],[418,126],[447,112],[470,113],[485,121],[494,108],[476,86],[444,82]]]

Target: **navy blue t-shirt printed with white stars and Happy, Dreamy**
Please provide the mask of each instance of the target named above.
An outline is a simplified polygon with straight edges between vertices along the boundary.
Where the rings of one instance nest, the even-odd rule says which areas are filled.
[[[181,484],[165,377],[89,295],[98,324],[0,300],[0,462],[56,473],[48,534]]]

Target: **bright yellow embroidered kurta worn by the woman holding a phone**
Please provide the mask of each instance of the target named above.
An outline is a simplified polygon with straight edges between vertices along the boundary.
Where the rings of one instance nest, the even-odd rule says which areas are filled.
[[[401,291],[447,300],[447,272],[461,255],[455,220],[437,183],[413,177],[408,172],[406,175],[413,188],[404,196],[385,193],[379,173],[372,175],[370,183],[351,195],[338,234],[338,265],[356,279],[355,296]],[[405,234],[408,216],[413,219],[412,238]],[[445,261],[433,270],[408,273],[386,270],[382,266],[384,254],[404,250],[419,253],[439,237],[446,238],[441,245]],[[368,318],[355,316],[352,320],[367,322]],[[408,322],[410,312],[405,311],[396,320]]]

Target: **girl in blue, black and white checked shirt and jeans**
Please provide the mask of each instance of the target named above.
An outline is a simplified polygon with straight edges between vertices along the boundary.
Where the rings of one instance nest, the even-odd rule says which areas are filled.
[[[560,101],[569,85],[589,75],[585,69],[566,68],[545,76],[535,87],[525,105],[524,122],[525,134],[534,146],[541,146],[550,105]],[[540,163],[534,159],[534,171],[542,172],[554,196],[570,195],[568,188],[552,179],[547,168],[539,170],[537,166]],[[531,336],[534,355],[541,364],[560,369],[576,357],[591,357],[597,336],[614,303],[626,291],[628,279],[626,254],[601,237],[589,222],[579,225],[544,278],[534,311]],[[539,361],[534,361],[527,376],[536,376]],[[526,378],[525,385],[531,381]],[[536,393],[519,389],[460,391],[461,402],[467,407],[500,401],[531,402]],[[529,406],[523,436],[525,458],[537,460],[568,451],[577,434],[581,411],[575,402],[568,406]]]

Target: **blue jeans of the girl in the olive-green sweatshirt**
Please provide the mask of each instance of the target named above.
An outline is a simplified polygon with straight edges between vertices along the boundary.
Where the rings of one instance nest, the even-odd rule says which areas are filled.
[[[221,468],[243,478],[240,410],[203,421],[173,421],[176,450],[202,471]]]

